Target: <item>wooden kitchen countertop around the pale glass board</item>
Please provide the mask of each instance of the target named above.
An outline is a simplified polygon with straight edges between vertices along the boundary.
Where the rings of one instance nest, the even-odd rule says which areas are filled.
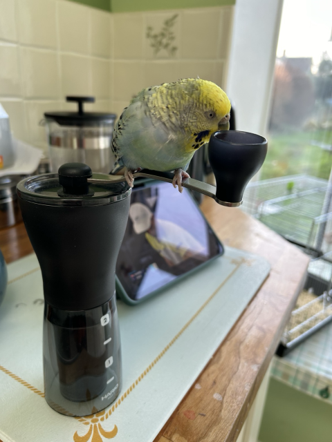
[[[308,256],[264,224],[210,198],[201,209],[224,244],[266,258],[271,271],[156,442],[237,439],[306,277]],[[0,249],[7,263],[33,251],[23,223],[0,230]]]

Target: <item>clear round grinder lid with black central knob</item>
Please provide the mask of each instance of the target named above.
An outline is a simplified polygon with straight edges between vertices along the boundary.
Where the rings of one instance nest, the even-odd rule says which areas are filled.
[[[127,182],[88,184],[86,180],[92,171],[86,164],[63,164],[58,172],[20,181],[19,198],[50,206],[100,206],[124,200],[131,194]]]

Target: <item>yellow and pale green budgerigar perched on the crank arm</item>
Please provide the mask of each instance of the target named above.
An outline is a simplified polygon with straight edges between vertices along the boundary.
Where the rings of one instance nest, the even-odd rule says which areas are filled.
[[[114,129],[112,151],[126,167],[133,186],[139,169],[174,171],[173,185],[182,179],[195,151],[219,128],[228,128],[230,100],[211,81],[181,79],[145,88],[124,108]]]

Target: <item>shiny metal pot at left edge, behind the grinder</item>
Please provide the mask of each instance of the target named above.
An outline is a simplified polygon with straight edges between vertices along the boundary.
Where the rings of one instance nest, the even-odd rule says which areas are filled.
[[[17,183],[21,179],[21,175],[0,177],[0,229],[22,220],[16,193]]]

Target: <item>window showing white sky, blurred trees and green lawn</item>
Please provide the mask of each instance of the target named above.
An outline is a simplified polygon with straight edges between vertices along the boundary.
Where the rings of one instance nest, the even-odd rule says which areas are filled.
[[[332,2],[284,0],[260,180],[332,166]]]

